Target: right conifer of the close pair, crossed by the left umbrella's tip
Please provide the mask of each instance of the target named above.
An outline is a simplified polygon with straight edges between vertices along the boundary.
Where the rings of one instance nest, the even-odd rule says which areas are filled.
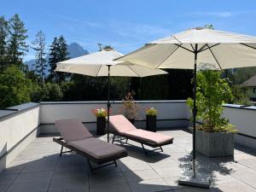
[[[58,51],[58,62],[68,60],[69,53],[67,52],[67,42],[65,38],[61,35],[61,37],[58,39],[59,44],[59,51]],[[58,82],[65,81],[67,78],[67,73],[57,73]]]

